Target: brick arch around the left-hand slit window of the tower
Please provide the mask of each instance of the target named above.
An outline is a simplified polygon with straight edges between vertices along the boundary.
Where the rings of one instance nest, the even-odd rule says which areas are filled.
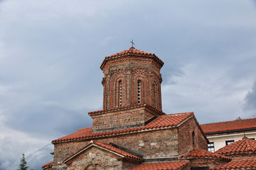
[[[120,84],[122,82],[122,94],[120,92]],[[122,95],[122,96],[121,96]],[[110,107],[120,107],[120,98],[122,98],[122,106],[127,105],[127,75],[123,71],[114,72],[110,78]]]

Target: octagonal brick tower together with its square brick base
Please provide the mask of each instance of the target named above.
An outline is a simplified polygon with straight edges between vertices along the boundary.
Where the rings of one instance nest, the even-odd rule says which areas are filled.
[[[101,65],[104,73],[103,110],[146,103],[161,111],[160,69],[163,64],[156,55],[134,47],[106,57]],[[145,125],[150,118],[161,115],[147,110],[137,108],[97,115],[89,113],[92,116],[92,131],[139,127]]]

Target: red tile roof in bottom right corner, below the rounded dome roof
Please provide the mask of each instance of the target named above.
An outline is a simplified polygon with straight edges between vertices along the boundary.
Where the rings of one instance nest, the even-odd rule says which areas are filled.
[[[210,170],[217,169],[256,169],[256,157],[233,158],[231,162],[228,162],[227,164],[221,164],[220,166],[215,166]]]

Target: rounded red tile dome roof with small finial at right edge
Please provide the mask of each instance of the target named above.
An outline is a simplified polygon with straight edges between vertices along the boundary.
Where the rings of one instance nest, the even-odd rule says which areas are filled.
[[[242,140],[226,145],[218,149],[215,153],[224,155],[256,153],[256,140],[249,140],[247,137],[242,137]]]

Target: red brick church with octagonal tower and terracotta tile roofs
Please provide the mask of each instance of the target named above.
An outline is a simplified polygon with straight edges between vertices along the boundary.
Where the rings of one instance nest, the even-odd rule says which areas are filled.
[[[102,111],[88,113],[92,127],[53,140],[53,162],[42,169],[238,169],[249,159],[244,168],[256,169],[255,141],[244,137],[245,147],[235,156],[233,149],[208,152],[209,141],[192,112],[162,111],[163,65],[156,55],[134,47],[105,57]]]

